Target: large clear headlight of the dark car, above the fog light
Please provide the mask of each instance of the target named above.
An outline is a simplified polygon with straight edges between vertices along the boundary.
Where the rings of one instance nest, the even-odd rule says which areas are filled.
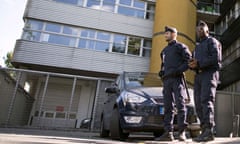
[[[126,103],[142,103],[147,99],[131,92],[125,92],[123,95],[123,102]]]

